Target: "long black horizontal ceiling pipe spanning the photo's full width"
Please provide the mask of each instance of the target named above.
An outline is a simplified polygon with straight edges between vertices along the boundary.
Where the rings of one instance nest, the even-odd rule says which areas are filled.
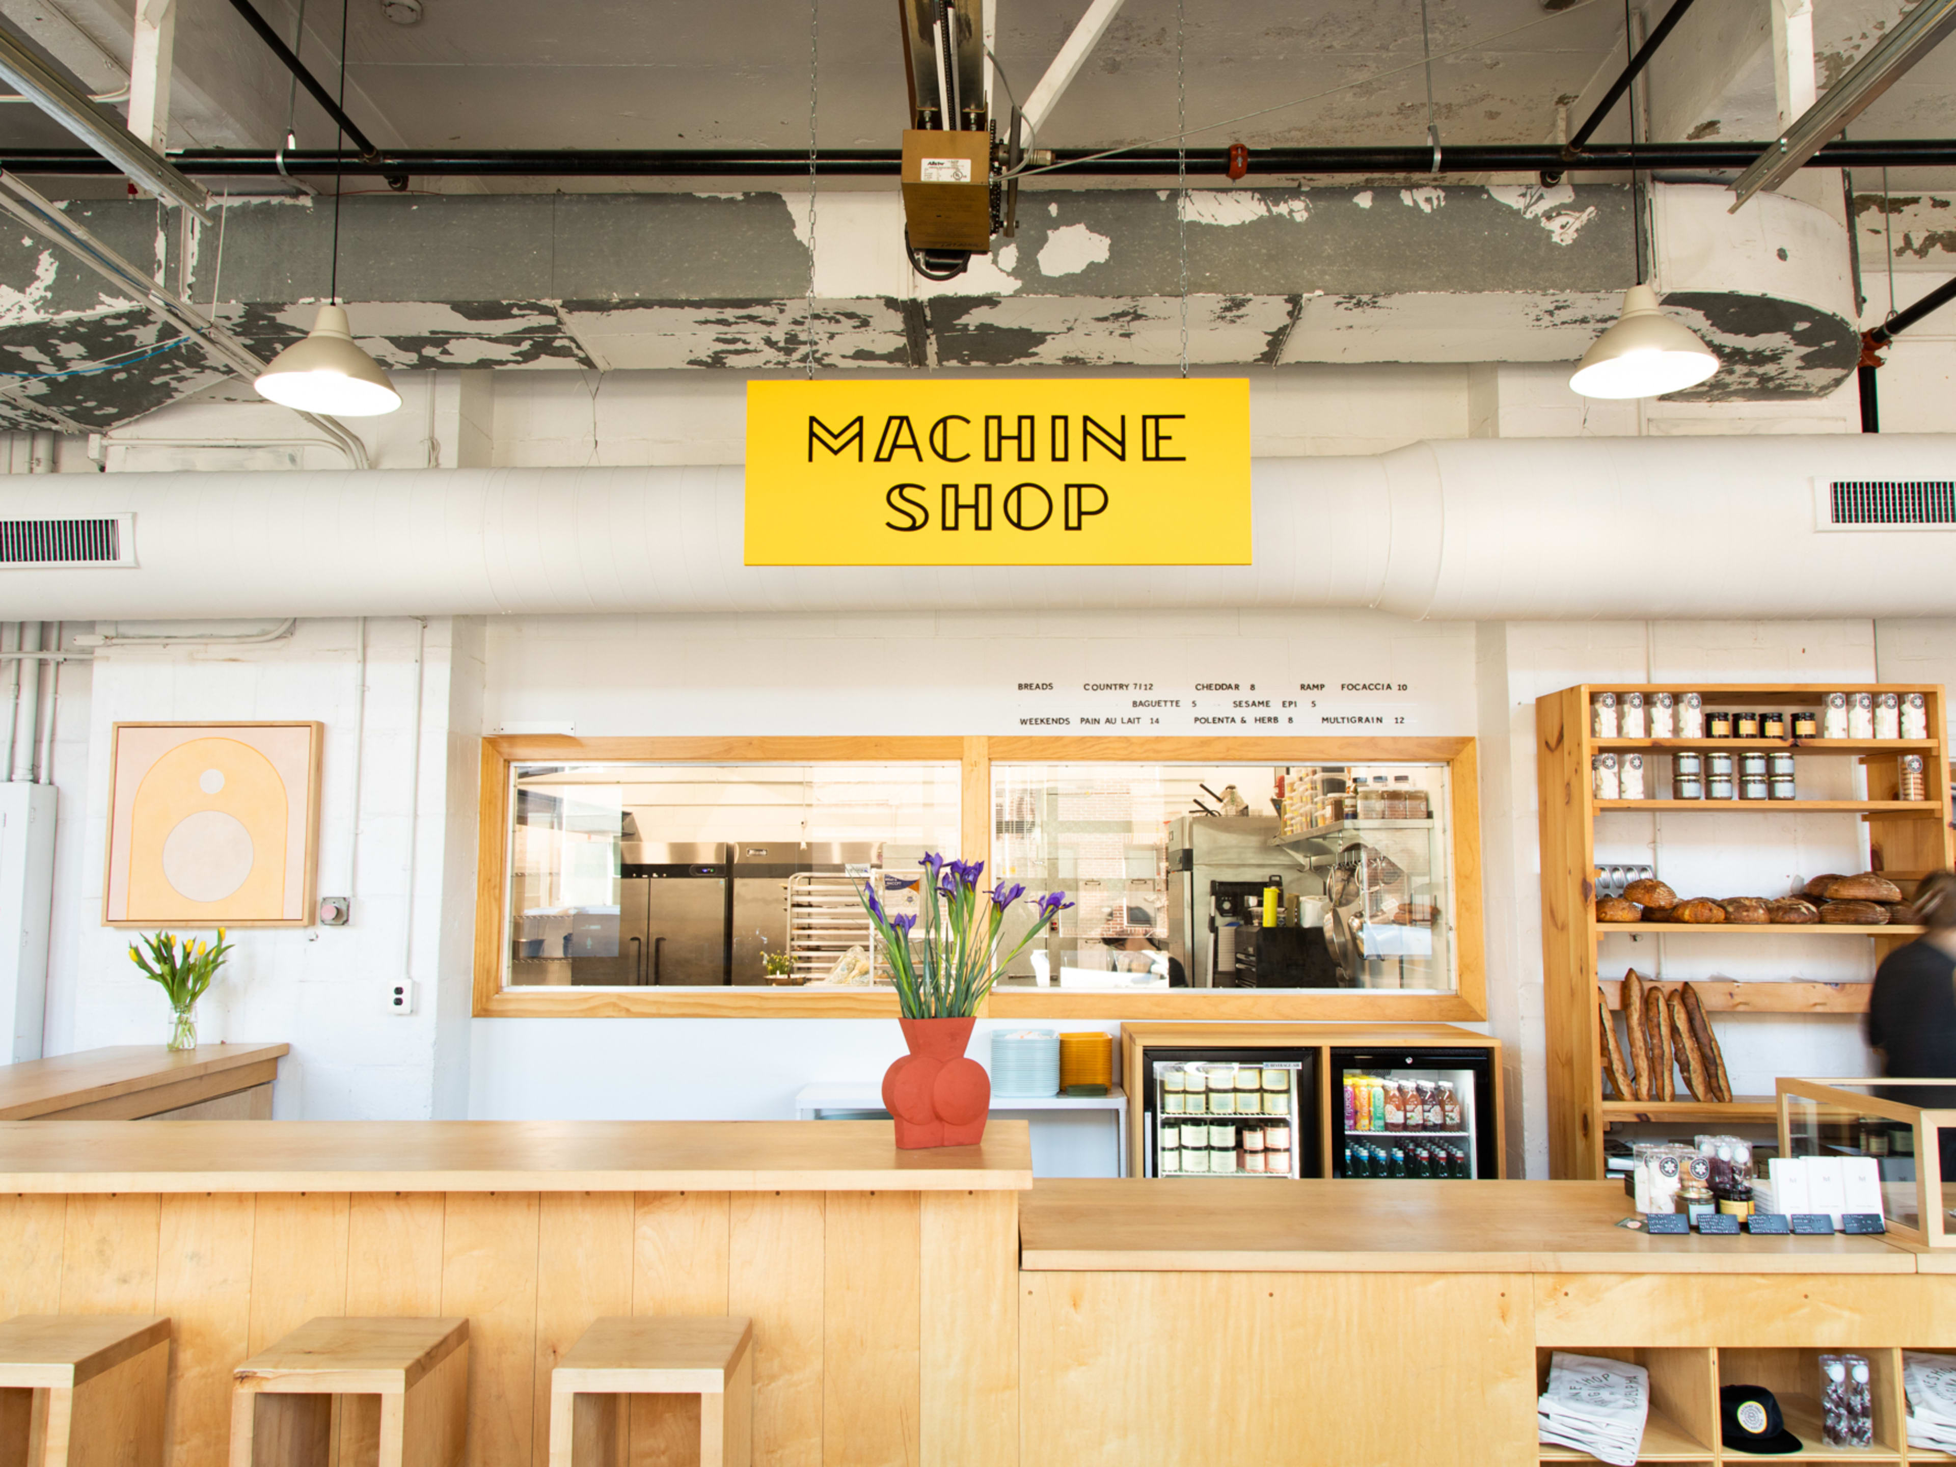
[[[1639,143],[1635,166],[1659,172],[1706,172],[1747,168],[1764,143]],[[280,155],[270,151],[186,149],[172,153],[186,174],[203,178],[260,178],[280,172]],[[291,174],[333,174],[327,151],[286,153]],[[1127,178],[1174,174],[1179,158],[1172,149],[1133,149],[1101,156],[1089,149],[1062,149],[1056,168],[1029,174],[1054,184],[1078,178]],[[113,174],[115,166],[88,149],[0,151],[0,166],[16,174]],[[1627,172],[1631,153],[1622,145],[1584,149],[1573,162],[1553,145],[1461,145],[1442,158],[1445,174],[1534,174],[1534,172]],[[1956,139],[1893,139],[1829,143],[1807,160],[1809,168],[1952,168]],[[556,149],[556,151],[391,151],[383,158],[346,158],[350,176],[417,174],[424,178],[792,178],[808,176],[808,151],[796,149]],[[896,178],[902,153],[896,149],[841,149],[822,153],[818,170],[827,178]],[[1228,178],[1228,149],[1191,149],[1187,170],[1195,176]],[[1414,147],[1316,147],[1260,149],[1250,153],[1250,178],[1281,182],[1299,174],[1397,176],[1432,174],[1434,153]]]

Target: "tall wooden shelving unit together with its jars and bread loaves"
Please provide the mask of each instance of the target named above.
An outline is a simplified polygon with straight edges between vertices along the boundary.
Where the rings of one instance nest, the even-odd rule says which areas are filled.
[[[1770,1095],[1731,1093],[1712,1015],[1856,1019],[1868,984],[1672,982],[1661,960],[1635,953],[1717,937],[1737,958],[1749,939],[1770,955],[1809,937],[1841,956],[1852,949],[1835,943],[1866,945],[1872,974],[1921,931],[1907,921],[1915,880],[1950,865],[1944,730],[1944,690],[1933,685],[1598,683],[1535,700],[1553,1176],[1604,1178],[1612,1125],[1774,1119]],[[1651,816],[1639,837],[1651,865],[1598,868],[1598,820],[1623,814]],[[1719,814],[1741,823],[1700,823]],[[1758,835],[1733,833],[1751,829]],[[1667,849],[1680,868],[1712,868],[1717,839],[1782,843],[1788,870],[1813,845],[1852,847],[1866,870],[1704,896],[1663,880]],[[1625,937],[1633,951],[1620,956]]]

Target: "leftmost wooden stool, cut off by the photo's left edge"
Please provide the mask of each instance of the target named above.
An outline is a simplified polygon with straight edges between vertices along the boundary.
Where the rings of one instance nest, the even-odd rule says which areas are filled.
[[[162,1467],[168,1383],[168,1318],[10,1318],[0,1324],[0,1461]]]

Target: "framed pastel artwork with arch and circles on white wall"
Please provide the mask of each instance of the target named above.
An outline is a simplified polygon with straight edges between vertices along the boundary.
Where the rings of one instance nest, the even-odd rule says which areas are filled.
[[[307,927],[325,724],[115,724],[108,927]]]

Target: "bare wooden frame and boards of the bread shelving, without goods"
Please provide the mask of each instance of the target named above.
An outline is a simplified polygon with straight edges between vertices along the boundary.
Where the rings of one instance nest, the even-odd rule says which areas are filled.
[[[1698,692],[1708,708],[1819,708],[1827,692],[1921,692],[1929,712],[1927,739],[1598,739],[1590,735],[1590,694]],[[1735,1099],[1729,1105],[1680,1101],[1604,1099],[1598,1060],[1596,984],[1598,949],[1606,935],[1651,941],[1784,941],[1833,937],[1874,943],[1876,956],[1909,941],[1911,925],[1672,925],[1596,921],[1596,818],[1614,812],[1667,816],[1833,816],[1858,818],[1868,829],[1874,867],[1897,882],[1950,865],[1950,763],[1944,747],[1944,694],[1917,683],[1827,685],[1704,685],[1704,683],[1596,683],[1549,692],[1535,700],[1535,773],[1541,790],[1541,956],[1549,1062],[1549,1168],[1557,1178],[1602,1178],[1604,1134],[1612,1123],[1674,1121],[1704,1125],[1768,1123],[1770,1099]],[[1712,749],[1792,749],[1801,759],[1858,759],[1866,769],[1858,800],[1598,800],[1590,759],[1602,751],[1674,753]],[[1897,800],[1897,755],[1921,753],[1927,800]],[[1655,771],[1649,771],[1655,784]],[[1659,874],[1663,861],[1659,853]],[[1698,892],[1680,892],[1698,896]],[[1715,896],[1739,896],[1717,892]],[[1612,978],[1622,978],[1612,972]],[[1766,1011],[1856,1015],[1866,1011],[1866,984],[1774,984],[1712,980],[1692,986],[1713,1011]],[[1616,984],[1606,984],[1606,994]],[[1618,1000],[1612,998],[1612,1007]]]

